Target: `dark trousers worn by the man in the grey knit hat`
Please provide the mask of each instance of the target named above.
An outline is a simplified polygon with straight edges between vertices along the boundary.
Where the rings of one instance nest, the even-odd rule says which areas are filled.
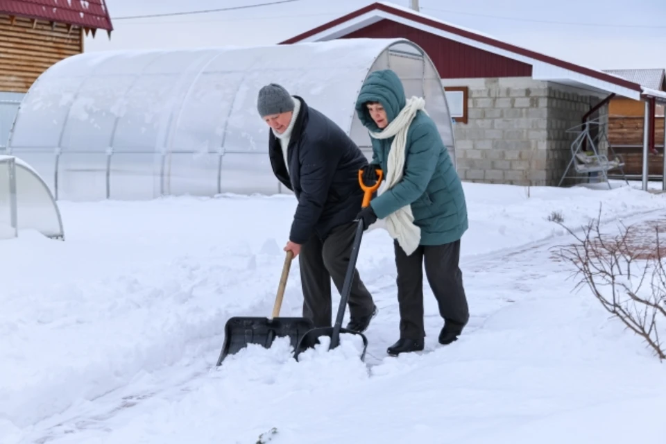
[[[342,293],[356,228],[357,222],[340,225],[334,228],[323,242],[316,235],[312,235],[300,248],[303,317],[310,319],[315,327],[332,325],[331,280]],[[352,318],[371,314],[375,308],[373,297],[356,269],[348,305]]]

